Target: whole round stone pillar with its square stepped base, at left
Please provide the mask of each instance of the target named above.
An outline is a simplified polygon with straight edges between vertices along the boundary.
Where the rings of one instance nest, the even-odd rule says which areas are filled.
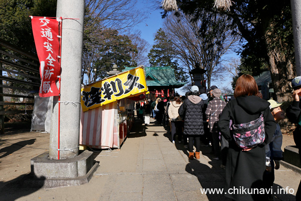
[[[54,96],[49,152],[30,161],[36,180],[43,178],[43,186],[48,188],[88,183],[98,167],[93,152],[79,153],[84,8],[85,0],[57,1],[57,17],[63,18],[60,110],[59,96]]]

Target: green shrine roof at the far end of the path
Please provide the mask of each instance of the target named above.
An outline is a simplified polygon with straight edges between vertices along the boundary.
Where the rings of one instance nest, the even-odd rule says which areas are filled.
[[[125,67],[124,70],[131,70],[134,67]],[[171,66],[144,67],[147,86],[184,86],[186,83],[177,81],[175,70]]]

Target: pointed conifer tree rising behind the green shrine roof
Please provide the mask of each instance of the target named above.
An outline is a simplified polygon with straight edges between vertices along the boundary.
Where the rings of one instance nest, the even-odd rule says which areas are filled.
[[[150,66],[171,66],[175,70],[176,80],[187,82],[189,76],[179,67],[178,60],[173,58],[172,43],[161,28],[154,41],[155,44],[147,55]]]

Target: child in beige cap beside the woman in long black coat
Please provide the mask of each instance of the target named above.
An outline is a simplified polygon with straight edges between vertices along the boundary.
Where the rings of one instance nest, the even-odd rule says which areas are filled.
[[[276,122],[276,130],[269,144],[265,145],[265,166],[266,170],[263,175],[263,181],[266,188],[269,189],[273,186],[275,180],[274,169],[279,169],[279,160],[282,159],[282,133],[278,122],[284,119],[284,111],[280,108],[282,103],[277,103],[275,100],[268,100],[270,103],[270,111]],[[272,194],[268,194],[266,200],[272,200]]]

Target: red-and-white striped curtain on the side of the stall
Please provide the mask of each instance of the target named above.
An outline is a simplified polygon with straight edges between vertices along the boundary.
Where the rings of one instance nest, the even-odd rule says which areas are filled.
[[[112,148],[116,144],[114,135],[118,135],[114,125],[116,109],[115,101],[87,112],[81,110],[79,144],[98,149]]]

